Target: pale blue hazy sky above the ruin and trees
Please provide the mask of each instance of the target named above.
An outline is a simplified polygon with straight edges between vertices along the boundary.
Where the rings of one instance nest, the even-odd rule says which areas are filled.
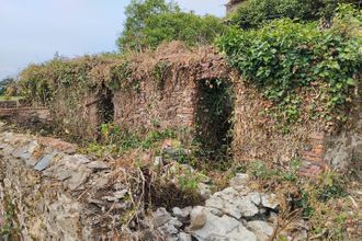
[[[115,51],[131,0],[0,0],[0,80],[56,53]],[[176,0],[185,10],[223,16],[227,0]]]

